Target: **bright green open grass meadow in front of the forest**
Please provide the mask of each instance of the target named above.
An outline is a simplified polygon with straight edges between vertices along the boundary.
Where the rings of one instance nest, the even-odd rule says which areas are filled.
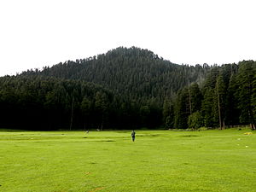
[[[0,191],[256,191],[247,131],[0,131]]]

